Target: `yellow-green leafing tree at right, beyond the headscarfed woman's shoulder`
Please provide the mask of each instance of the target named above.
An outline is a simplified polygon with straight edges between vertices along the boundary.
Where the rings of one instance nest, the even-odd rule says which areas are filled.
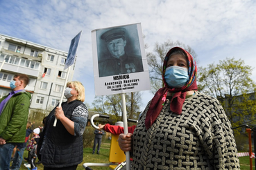
[[[255,83],[250,79],[253,69],[244,60],[234,58],[200,69],[201,91],[219,99],[232,126],[253,124],[256,109]]]

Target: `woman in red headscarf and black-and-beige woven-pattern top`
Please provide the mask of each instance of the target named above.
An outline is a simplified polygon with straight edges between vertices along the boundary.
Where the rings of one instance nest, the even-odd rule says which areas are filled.
[[[196,74],[186,50],[169,50],[164,87],[134,133],[119,135],[119,146],[133,156],[132,169],[239,169],[230,121],[218,100],[197,91]]]

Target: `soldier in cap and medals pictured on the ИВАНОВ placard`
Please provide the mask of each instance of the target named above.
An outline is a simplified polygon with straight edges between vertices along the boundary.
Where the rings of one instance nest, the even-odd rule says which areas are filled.
[[[142,56],[126,53],[125,28],[113,28],[104,32],[109,55],[99,60],[99,77],[137,73],[143,71]]]

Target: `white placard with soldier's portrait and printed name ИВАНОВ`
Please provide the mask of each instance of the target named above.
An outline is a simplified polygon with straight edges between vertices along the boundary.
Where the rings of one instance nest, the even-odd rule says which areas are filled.
[[[140,23],[92,30],[92,55],[95,95],[151,89]]]

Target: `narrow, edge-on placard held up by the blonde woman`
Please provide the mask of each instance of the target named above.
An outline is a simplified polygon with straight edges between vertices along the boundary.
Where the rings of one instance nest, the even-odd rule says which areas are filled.
[[[74,64],[75,58],[76,58],[76,51],[78,48],[78,44],[80,41],[80,37],[81,37],[82,31],[80,31],[78,33],[78,35],[76,35],[76,37],[74,37],[74,39],[71,39],[71,43],[69,46],[69,53],[67,54],[67,61],[65,63],[64,66],[64,70],[66,70],[66,68],[68,68],[69,66],[71,66],[72,64]]]

